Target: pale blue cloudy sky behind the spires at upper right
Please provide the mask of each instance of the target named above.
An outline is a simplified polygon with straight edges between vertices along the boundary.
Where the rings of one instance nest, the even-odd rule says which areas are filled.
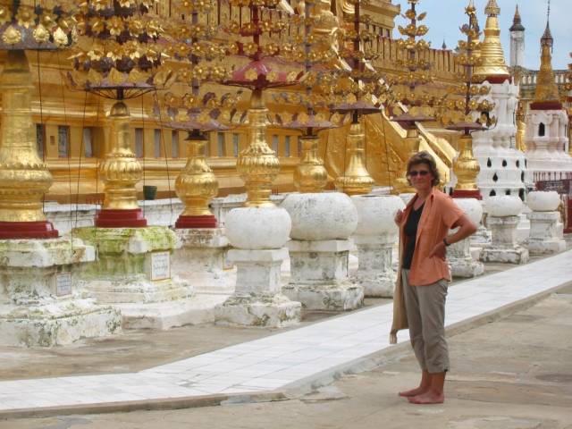
[[[401,4],[401,10],[407,10],[406,0],[393,0],[394,4]],[[484,6],[487,0],[475,0],[479,11],[479,22],[484,29]],[[505,51],[505,58],[509,63],[509,28],[512,25],[515,7],[518,4],[522,23],[526,28],[526,67],[538,70],[540,66],[540,38],[546,28],[546,4],[548,0],[497,0],[501,7],[501,38]],[[441,47],[443,39],[448,47],[457,46],[460,32],[458,27],[467,21],[465,6],[468,0],[421,0],[417,6],[420,12],[427,12],[426,24],[429,26],[427,38],[433,47]],[[572,63],[569,53],[572,51],[572,0],[551,0],[551,32],[554,38],[554,54],[552,65],[555,69],[565,69]],[[398,23],[403,20],[398,18]],[[399,37],[399,33],[394,34]]]

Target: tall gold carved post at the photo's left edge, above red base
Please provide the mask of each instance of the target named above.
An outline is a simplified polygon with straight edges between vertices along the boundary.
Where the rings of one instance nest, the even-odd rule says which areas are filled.
[[[0,75],[0,222],[46,220],[42,198],[53,179],[36,148],[31,109],[33,88],[24,51],[8,51]]]

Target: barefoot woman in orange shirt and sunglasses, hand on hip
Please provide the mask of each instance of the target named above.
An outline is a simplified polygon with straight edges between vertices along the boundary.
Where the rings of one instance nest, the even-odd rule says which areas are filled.
[[[397,342],[398,330],[409,328],[422,370],[419,386],[400,391],[400,396],[414,404],[439,404],[444,400],[445,373],[449,371],[444,328],[450,282],[446,249],[475,233],[476,226],[450,196],[435,189],[439,171],[428,152],[409,159],[408,181],[416,194],[405,210],[395,215],[400,227],[400,270],[390,341]],[[458,231],[449,235],[454,228]]]

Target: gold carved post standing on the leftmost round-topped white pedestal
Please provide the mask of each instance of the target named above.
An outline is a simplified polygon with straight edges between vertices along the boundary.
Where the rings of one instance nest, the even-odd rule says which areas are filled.
[[[272,183],[280,162],[266,143],[266,115],[268,109],[262,99],[262,91],[255,89],[250,96],[248,109],[248,147],[240,152],[236,163],[237,171],[247,189],[247,207],[274,206],[270,201]]]

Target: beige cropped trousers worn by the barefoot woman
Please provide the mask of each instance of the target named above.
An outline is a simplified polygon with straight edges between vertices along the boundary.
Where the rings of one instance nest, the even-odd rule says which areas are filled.
[[[431,374],[449,371],[449,350],[445,340],[448,282],[440,280],[426,286],[410,286],[409,270],[401,270],[401,276],[409,337],[419,366]]]

